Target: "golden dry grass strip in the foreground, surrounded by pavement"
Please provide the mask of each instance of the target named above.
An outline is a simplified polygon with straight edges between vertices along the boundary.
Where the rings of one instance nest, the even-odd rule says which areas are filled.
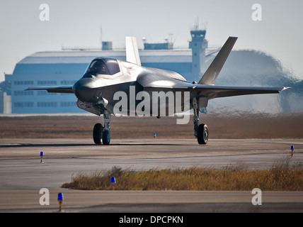
[[[105,173],[79,173],[62,187],[109,190],[112,189],[110,178],[115,177],[115,190],[303,191],[302,164],[288,163],[288,159],[279,161],[270,170],[248,170],[242,165],[222,170],[192,167],[134,171],[113,167]]]

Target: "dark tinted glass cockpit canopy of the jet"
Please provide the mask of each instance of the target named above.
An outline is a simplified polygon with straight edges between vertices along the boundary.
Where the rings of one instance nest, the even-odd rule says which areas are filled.
[[[120,72],[120,67],[117,60],[109,57],[102,57],[94,59],[88,66],[84,75],[113,75],[118,72]]]

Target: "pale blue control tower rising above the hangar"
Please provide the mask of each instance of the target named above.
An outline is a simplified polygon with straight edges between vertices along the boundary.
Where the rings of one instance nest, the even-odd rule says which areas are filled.
[[[205,64],[205,49],[208,42],[205,40],[206,30],[201,30],[195,26],[190,31],[192,40],[189,42],[189,48],[192,49],[192,74],[194,78],[202,76],[202,66]]]

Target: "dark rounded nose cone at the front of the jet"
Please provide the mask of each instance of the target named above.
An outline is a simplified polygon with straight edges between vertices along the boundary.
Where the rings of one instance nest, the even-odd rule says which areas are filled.
[[[76,97],[84,102],[97,102],[96,94],[93,89],[93,81],[91,78],[81,78],[73,86]]]

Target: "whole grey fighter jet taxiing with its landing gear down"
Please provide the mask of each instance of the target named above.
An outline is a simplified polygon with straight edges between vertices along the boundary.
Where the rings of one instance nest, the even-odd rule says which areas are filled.
[[[96,123],[93,128],[93,141],[96,144],[108,145],[110,116],[113,114],[149,115],[159,118],[184,113],[191,109],[193,109],[193,134],[199,144],[206,144],[209,138],[208,128],[204,123],[199,124],[199,114],[206,114],[210,99],[246,94],[273,94],[288,88],[216,86],[215,80],[236,43],[236,37],[227,39],[198,83],[188,82],[177,72],[142,67],[136,38],[126,37],[125,40],[126,61],[97,57],[91,61],[83,77],[74,85],[29,87],[26,90],[75,94],[80,109],[98,116],[103,115],[103,125]],[[168,103],[169,96],[173,96],[172,108]],[[176,104],[180,105],[176,106]]]

